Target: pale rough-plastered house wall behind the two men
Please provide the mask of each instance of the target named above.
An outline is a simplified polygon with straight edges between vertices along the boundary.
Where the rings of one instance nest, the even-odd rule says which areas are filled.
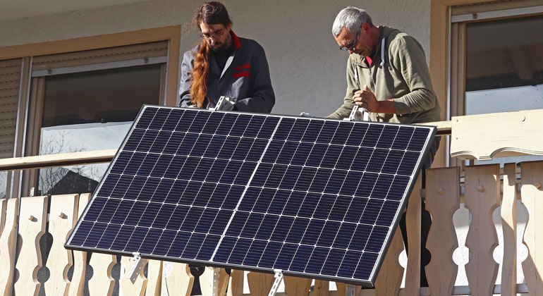
[[[190,18],[200,3],[154,0],[8,20],[0,23],[0,47],[181,24],[181,51],[185,51],[198,41],[199,32],[190,27]],[[376,25],[408,32],[429,56],[429,0],[394,0],[386,5],[378,0],[223,3],[236,34],[256,39],[266,51],[276,92],[273,113],[297,115],[306,111],[326,116],[342,104],[348,54],[338,50],[331,24],[345,6],[365,8]]]

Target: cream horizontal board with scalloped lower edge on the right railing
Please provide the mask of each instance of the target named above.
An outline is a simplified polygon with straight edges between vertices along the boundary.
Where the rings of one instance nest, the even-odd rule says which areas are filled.
[[[453,117],[451,156],[543,155],[543,109]]]

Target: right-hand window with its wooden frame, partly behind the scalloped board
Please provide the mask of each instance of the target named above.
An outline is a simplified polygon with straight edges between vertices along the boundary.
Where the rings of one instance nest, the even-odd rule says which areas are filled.
[[[489,5],[456,11],[453,7],[451,116],[543,109],[543,35],[535,34],[543,30],[543,15],[537,15],[543,6],[497,10],[499,5],[492,4],[496,11],[485,11]],[[543,158],[505,157],[475,163],[537,159]],[[451,159],[451,164],[458,162]]]

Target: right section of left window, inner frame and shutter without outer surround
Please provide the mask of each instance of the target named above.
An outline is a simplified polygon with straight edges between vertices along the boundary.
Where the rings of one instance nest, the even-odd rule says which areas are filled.
[[[116,149],[143,104],[163,104],[167,42],[34,58],[27,155]],[[35,195],[93,192],[108,164],[25,175]]]

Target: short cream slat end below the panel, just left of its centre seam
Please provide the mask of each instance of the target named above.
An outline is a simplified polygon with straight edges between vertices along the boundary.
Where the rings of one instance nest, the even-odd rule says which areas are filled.
[[[188,264],[164,262],[164,277],[168,295],[190,296],[190,292],[193,290],[194,276],[190,273]]]

